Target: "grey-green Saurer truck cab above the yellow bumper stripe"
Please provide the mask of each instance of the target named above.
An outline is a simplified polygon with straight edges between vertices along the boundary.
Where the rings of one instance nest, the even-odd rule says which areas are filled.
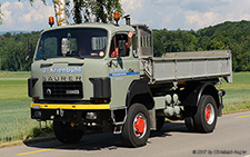
[[[32,63],[30,96],[34,101],[73,100],[103,104],[104,108],[124,106],[124,98],[113,99],[126,95],[122,91],[126,87],[119,82],[140,78],[139,60],[132,47],[126,49],[129,31],[134,30],[99,23],[46,30]],[[114,47],[123,53],[111,56]],[[111,90],[112,86],[119,88]]]

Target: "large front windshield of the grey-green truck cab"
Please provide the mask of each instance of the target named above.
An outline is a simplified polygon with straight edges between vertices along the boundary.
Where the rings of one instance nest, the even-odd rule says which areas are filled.
[[[102,58],[106,55],[107,30],[71,28],[47,31],[41,36],[36,59],[56,57]]]

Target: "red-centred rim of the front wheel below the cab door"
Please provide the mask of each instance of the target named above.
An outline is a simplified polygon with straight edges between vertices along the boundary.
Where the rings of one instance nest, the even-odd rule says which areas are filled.
[[[133,133],[138,138],[142,138],[147,130],[147,119],[142,114],[138,114],[133,119]]]

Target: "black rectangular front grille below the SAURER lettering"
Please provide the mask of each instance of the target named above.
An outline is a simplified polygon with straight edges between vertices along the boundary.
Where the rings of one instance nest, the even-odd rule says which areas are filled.
[[[43,81],[44,98],[81,99],[81,81]]]

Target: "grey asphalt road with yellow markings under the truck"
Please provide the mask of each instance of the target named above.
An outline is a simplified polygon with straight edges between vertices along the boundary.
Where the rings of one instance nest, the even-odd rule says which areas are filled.
[[[127,148],[119,135],[88,135],[80,144],[63,145],[57,140],[0,149],[1,157],[250,157],[250,111],[219,118],[212,134],[191,134],[183,121],[166,124],[152,133],[147,146]]]

